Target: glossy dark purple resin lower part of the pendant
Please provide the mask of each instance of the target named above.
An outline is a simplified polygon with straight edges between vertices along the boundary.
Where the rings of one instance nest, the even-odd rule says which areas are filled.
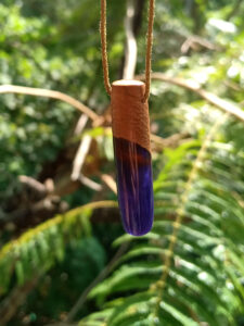
[[[118,202],[126,231],[147,234],[153,225],[153,175],[151,153],[141,146],[114,137]]]

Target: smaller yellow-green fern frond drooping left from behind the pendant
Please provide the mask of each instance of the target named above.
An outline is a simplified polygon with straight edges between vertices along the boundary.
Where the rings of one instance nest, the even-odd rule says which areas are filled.
[[[7,243],[0,250],[0,294],[8,290],[13,276],[22,285],[36,271],[47,271],[56,260],[62,260],[67,242],[90,234],[92,211],[114,206],[117,206],[114,201],[84,205],[57,215]]]

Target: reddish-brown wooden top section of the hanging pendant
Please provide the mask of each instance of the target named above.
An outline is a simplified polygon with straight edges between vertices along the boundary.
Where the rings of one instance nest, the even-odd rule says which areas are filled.
[[[150,149],[149,103],[143,103],[145,85],[139,80],[117,80],[112,84],[112,127],[117,138]]]

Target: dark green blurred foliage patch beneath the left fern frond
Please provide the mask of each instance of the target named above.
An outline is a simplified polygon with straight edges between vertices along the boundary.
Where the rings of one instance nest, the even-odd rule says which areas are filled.
[[[22,309],[35,311],[39,324],[44,324],[49,318],[59,318],[61,312],[72,309],[80,292],[104,267],[105,261],[104,248],[98,239],[77,239],[66,247],[64,260],[42,277]]]

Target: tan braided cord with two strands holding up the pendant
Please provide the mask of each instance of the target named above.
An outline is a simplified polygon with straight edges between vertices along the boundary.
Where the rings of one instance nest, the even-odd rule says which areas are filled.
[[[143,102],[145,102],[150,97],[151,87],[151,66],[152,66],[152,48],[153,48],[153,23],[154,23],[154,12],[155,12],[155,0],[149,0],[149,28],[147,28],[147,45],[146,45],[146,57],[145,57],[145,93]],[[108,60],[106,51],[106,0],[101,0],[101,45],[102,45],[102,63],[103,63],[103,74],[104,74],[104,85],[106,92],[111,96],[112,87],[110,82],[108,72]]]

